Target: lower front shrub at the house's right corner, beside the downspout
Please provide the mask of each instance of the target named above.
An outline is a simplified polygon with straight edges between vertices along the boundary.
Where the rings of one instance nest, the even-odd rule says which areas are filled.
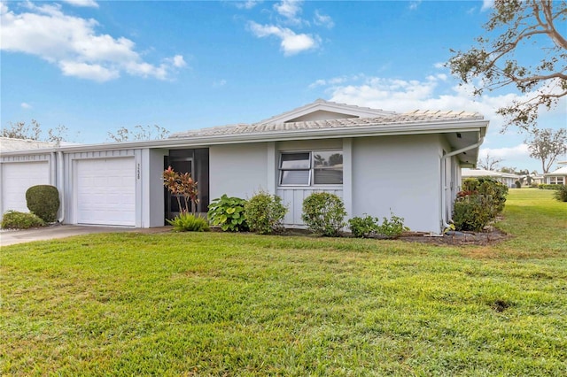
[[[457,197],[454,202],[453,222],[456,230],[480,232],[492,219],[486,209],[486,199],[478,194]]]

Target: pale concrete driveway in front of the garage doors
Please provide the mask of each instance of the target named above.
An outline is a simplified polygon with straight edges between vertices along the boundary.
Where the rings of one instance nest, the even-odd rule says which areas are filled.
[[[27,230],[0,230],[0,246],[14,245],[32,241],[45,241],[56,238],[65,238],[72,235],[89,235],[92,233],[115,233],[115,232],[140,232],[140,233],[163,233],[168,232],[171,227],[87,227],[78,225],[53,225],[50,227],[38,227]]]

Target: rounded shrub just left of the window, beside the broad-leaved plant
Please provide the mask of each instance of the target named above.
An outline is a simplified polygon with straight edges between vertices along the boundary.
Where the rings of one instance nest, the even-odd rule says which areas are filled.
[[[260,192],[245,204],[245,219],[252,232],[267,235],[282,228],[283,216],[287,208],[282,204],[282,198]]]

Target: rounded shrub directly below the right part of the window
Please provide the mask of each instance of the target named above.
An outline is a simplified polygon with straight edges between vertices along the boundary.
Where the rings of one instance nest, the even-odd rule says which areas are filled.
[[[346,225],[345,216],[345,204],[335,194],[315,192],[303,201],[301,219],[316,234],[338,236]]]

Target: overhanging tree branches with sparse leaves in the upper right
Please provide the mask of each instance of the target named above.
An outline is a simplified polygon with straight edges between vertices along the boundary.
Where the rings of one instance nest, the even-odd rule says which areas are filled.
[[[541,105],[550,109],[567,95],[567,40],[562,35],[566,19],[564,0],[495,0],[484,26],[486,35],[468,51],[451,50],[448,65],[464,83],[474,85],[476,96],[516,86],[525,96],[497,113],[508,120],[504,129],[516,124],[529,130]],[[538,56],[528,53],[519,61],[523,50],[535,50]]]

